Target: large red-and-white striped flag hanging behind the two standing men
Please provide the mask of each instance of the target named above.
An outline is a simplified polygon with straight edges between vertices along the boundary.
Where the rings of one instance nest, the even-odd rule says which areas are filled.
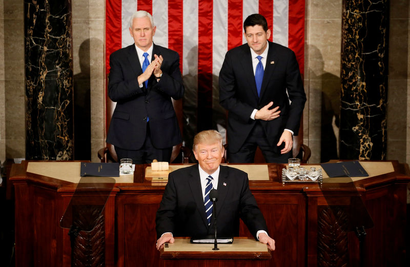
[[[267,18],[270,40],[291,48],[303,73],[304,0],[107,0],[107,74],[110,54],[133,44],[128,28],[137,10],[152,14],[157,27],[154,43],[179,53],[186,89],[185,127],[192,132],[184,131],[185,136],[224,125],[218,75],[225,53],[246,42],[243,20],[250,14]]]

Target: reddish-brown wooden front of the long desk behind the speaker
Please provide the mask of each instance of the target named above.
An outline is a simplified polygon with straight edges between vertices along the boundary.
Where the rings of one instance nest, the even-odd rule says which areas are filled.
[[[48,162],[44,162],[47,168]],[[366,230],[366,266],[405,266],[407,165],[392,161],[394,172],[355,182],[280,182],[284,166],[269,164],[269,180],[252,180],[250,188],[276,240],[270,266],[324,266],[328,259],[359,265],[359,243],[354,233],[339,231],[352,196],[360,196],[375,226]],[[70,266],[68,230],[59,219],[76,184],[27,172],[27,161],[15,164],[10,180],[15,189],[16,266]],[[144,177],[137,165],[128,183],[116,183],[93,237],[95,251],[105,251],[105,266],[159,266],[155,250],[155,213],[165,183]],[[61,171],[61,170],[60,170]],[[332,205],[329,207],[329,205]],[[252,237],[241,222],[240,236]],[[85,236],[82,240],[86,240]]]

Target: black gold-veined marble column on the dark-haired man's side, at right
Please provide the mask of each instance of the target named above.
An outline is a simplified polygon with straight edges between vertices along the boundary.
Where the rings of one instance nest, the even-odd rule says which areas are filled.
[[[343,0],[341,159],[386,159],[388,5]]]

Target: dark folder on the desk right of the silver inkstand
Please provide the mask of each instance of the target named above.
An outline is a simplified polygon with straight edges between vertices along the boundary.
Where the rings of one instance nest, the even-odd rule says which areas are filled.
[[[358,160],[322,163],[320,165],[329,177],[364,177],[368,173]]]

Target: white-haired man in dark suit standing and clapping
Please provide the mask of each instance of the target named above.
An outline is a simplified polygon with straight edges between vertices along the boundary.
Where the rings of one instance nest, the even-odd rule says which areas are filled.
[[[151,14],[137,11],[130,23],[135,44],[110,56],[108,95],[117,102],[107,142],[118,159],[134,163],[169,161],[182,141],[172,98],[183,95],[178,53],[152,42]]]

